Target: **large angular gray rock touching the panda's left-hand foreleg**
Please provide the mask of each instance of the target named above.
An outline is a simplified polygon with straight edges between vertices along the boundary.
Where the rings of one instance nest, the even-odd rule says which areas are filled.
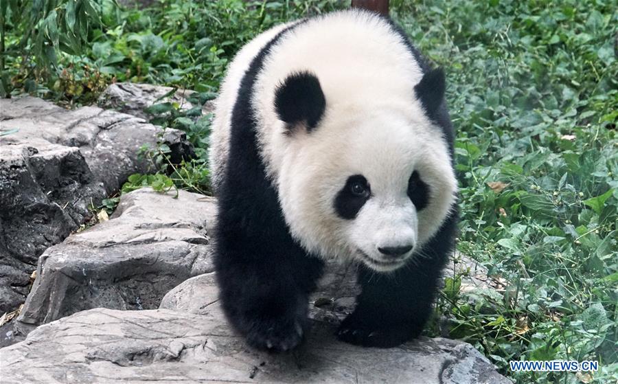
[[[157,308],[174,286],[213,270],[207,232],[214,214],[214,199],[200,194],[125,194],[109,221],[43,253],[16,330],[90,308]]]

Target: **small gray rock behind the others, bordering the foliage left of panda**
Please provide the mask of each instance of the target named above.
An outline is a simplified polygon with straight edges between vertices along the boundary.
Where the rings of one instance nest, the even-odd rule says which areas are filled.
[[[177,103],[180,109],[189,110],[194,105],[187,100],[194,91],[189,89],[178,89],[172,95],[163,96],[172,92],[172,87],[162,87],[160,85],[137,84],[133,82],[117,82],[111,84],[101,94],[99,105],[106,109],[115,109],[123,113],[129,113],[137,117],[148,120],[150,117],[146,111],[153,104],[172,102]],[[159,100],[161,99],[161,100]],[[214,110],[214,104],[207,102],[202,107],[202,114],[206,115]]]

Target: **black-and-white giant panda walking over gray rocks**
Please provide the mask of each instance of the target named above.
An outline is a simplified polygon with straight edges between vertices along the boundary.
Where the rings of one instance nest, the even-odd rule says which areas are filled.
[[[295,348],[325,260],[358,265],[342,341],[417,337],[453,249],[457,181],[441,69],[389,19],[279,25],[229,65],[211,126],[222,308],[254,348]]]

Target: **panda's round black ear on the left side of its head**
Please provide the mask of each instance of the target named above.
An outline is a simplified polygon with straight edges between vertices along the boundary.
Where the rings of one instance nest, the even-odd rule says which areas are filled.
[[[325,108],[320,81],[309,72],[291,74],[275,91],[277,115],[290,128],[301,123],[311,131],[319,123]]]

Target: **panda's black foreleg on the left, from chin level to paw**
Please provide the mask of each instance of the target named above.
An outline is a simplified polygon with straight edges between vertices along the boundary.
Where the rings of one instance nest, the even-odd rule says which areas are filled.
[[[308,330],[308,295],[322,262],[301,249],[269,247],[265,240],[245,242],[238,234],[218,239],[222,308],[253,348],[291,350]]]

